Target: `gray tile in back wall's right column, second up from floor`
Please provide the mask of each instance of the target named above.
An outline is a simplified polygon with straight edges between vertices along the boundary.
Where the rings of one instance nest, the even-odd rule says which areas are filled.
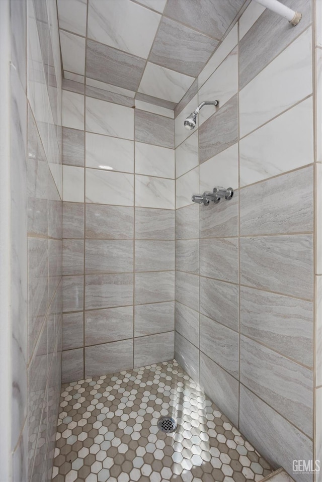
[[[173,331],[174,302],[137,305],[134,308],[134,336],[154,335]]]

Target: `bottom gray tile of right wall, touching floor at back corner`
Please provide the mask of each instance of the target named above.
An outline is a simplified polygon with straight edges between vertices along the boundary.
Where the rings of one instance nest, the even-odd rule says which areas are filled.
[[[199,383],[199,350],[178,332],[175,332],[175,359]]]

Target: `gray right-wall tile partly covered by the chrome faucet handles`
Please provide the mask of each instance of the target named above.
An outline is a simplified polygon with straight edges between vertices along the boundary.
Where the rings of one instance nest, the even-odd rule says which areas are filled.
[[[221,200],[219,204],[200,206],[199,223],[200,238],[237,236],[238,191],[234,191],[233,198],[227,202]]]

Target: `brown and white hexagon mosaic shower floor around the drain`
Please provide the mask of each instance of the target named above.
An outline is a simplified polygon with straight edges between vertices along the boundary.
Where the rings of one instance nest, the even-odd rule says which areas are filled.
[[[168,414],[171,434],[157,428]],[[54,482],[259,482],[272,471],[176,360],[62,385]]]

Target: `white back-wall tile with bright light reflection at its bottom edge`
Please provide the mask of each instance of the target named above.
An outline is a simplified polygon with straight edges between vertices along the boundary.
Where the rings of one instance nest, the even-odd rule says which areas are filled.
[[[133,172],[133,141],[87,132],[86,167]]]

